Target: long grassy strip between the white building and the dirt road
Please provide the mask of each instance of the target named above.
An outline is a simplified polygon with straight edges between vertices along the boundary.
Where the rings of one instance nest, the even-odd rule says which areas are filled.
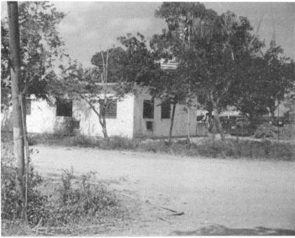
[[[46,144],[50,146],[81,146],[101,148],[104,150],[127,150],[152,153],[168,153],[182,156],[203,156],[207,158],[250,158],[295,161],[295,148],[286,141],[269,139],[226,139],[220,141],[203,139],[200,144],[187,140],[173,141],[168,144],[164,139],[127,139],[110,137],[108,140],[95,137],[61,137],[31,135],[30,144]]]

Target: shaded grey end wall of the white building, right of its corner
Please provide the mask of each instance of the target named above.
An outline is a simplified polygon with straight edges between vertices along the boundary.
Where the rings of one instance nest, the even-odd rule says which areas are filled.
[[[134,100],[134,137],[167,137],[170,127],[170,119],[161,119],[160,101],[154,99],[154,118],[143,118],[143,100],[150,100],[152,97],[147,92],[142,92]],[[171,105],[172,113],[172,105]],[[152,121],[153,130],[146,129],[146,122]],[[185,105],[177,104],[173,124],[173,137],[187,136],[188,112]],[[190,134],[196,135],[196,110],[191,109],[190,113]]]

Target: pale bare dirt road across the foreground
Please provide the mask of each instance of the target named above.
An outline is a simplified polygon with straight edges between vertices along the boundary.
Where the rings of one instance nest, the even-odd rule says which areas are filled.
[[[95,171],[131,212],[105,235],[295,235],[295,163],[34,146],[53,177]],[[184,212],[173,212],[152,204]]]

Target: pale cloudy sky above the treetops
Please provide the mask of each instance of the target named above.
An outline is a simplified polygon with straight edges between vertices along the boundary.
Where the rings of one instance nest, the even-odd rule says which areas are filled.
[[[140,32],[147,38],[161,33],[164,20],[154,17],[161,2],[95,2],[55,1],[57,10],[66,13],[59,25],[66,50],[73,59],[91,66],[91,57],[99,50],[118,45],[117,37]],[[217,13],[231,10],[247,17],[254,32],[262,18],[259,36],[268,44],[273,33],[287,57],[295,59],[295,2],[203,2]],[[6,2],[1,2],[1,18],[7,15]]]

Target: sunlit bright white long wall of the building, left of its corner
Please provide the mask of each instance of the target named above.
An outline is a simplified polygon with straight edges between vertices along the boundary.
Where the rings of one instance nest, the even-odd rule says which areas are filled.
[[[99,105],[96,106],[99,111]],[[107,118],[106,128],[109,136],[133,136],[134,96],[129,95],[117,102],[117,118]],[[56,106],[44,100],[32,100],[31,115],[27,115],[29,133],[73,134],[73,120],[80,121],[78,134],[103,137],[99,118],[89,105],[83,101],[73,101],[73,118],[56,116]]]

